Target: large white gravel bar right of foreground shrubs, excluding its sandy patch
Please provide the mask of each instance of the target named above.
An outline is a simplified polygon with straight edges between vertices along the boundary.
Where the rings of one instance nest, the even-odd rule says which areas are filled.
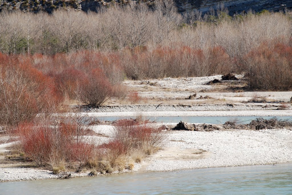
[[[203,159],[152,159],[147,171],[245,166],[292,162],[292,131],[290,130],[233,130],[233,131],[176,131],[170,134],[166,148],[206,150]],[[175,141],[178,140],[178,141]],[[167,152],[167,150],[166,150]],[[163,151],[161,153],[163,156]]]

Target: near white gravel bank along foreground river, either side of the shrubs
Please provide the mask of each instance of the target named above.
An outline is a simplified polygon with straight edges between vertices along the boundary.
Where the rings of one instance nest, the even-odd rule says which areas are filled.
[[[159,123],[162,125],[163,123]],[[167,125],[170,125],[169,123]],[[174,125],[174,124],[172,124]],[[110,125],[91,127],[96,133],[110,136]],[[150,155],[141,164],[135,164],[134,172],[174,171],[183,169],[246,166],[292,162],[292,131],[286,129],[224,130],[224,131],[167,131],[162,150]],[[98,138],[98,137],[97,137]],[[99,137],[101,141],[110,138]],[[1,147],[0,145],[0,148]],[[83,173],[61,173],[35,168],[0,168],[0,181],[88,176]],[[119,173],[119,172],[116,172]]]

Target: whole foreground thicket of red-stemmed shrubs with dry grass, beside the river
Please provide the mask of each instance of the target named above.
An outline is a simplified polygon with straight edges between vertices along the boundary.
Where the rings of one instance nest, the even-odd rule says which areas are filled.
[[[82,117],[81,117],[82,118]],[[124,168],[133,169],[133,162],[157,151],[165,135],[160,128],[146,122],[120,120],[111,140],[98,145],[78,116],[56,123],[53,118],[35,123],[22,123],[15,130],[20,136],[20,148],[39,167],[50,166],[54,173],[65,167],[95,168],[111,173]]]

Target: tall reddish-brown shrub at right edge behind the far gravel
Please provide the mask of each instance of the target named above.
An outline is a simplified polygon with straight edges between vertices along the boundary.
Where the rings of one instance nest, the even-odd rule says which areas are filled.
[[[244,57],[248,85],[252,89],[292,89],[292,48],[264,43]]]

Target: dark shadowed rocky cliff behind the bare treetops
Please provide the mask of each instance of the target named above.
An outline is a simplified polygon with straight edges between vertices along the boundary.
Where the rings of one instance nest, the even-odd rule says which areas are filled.
[[[149,6],[155,0],[145,0]],[[216,10],[221,3],[228,8],[230,15],[241,13],[242,11],[254,10],[256,12],[263,9],[270,11],[292,9],[292,0],[174,0],[180,13],[193,10],[207,13],[210,8]],[[101,6],[109,6],[110,3],[126,3],[125,0],[0,0],[0,10],[20,9],[38,12],[45,10],[51,13],[58,7],[73,7],[77,10],[96,11]]]

